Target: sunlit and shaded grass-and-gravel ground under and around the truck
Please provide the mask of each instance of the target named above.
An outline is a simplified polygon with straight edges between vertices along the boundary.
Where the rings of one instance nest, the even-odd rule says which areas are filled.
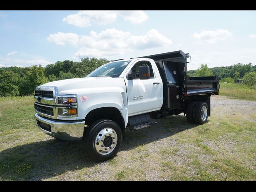
[[[82,142],[40,132],[33,115],[32,96],[0,98],[0,180],[256,180],[255,102],[213,96],[206,124],[158,119],[127,132],[117,156],[101,163]]]

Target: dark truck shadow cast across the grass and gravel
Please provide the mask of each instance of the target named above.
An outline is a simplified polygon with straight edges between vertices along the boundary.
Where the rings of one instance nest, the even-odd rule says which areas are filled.
[[[186,117],[181,115],[158,119],[157,122],[138,131],[127,131],[120,151],[131,150],[197,126],[188,123]],[[2,151],[0,180],[43,180],[54,176],[58,176],[57,180],[76,180],[80,169],[104,163],[108,162],[90,160],[84,152],[82,141],[53,138]],[[74,172],[72,178],[59,176],[68,171]]]

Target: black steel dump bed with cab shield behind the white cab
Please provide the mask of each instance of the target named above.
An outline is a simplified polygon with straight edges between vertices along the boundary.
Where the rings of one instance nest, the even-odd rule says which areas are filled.
[[[163,109],[179,108],[181,99],[187,96],[219,93],[218,76],[186,75],[188,57],[181,50],[140,57],[153,59],[158,67],[164,86]]]

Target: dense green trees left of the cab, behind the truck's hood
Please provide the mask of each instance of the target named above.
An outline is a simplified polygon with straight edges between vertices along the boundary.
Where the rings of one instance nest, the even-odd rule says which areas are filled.
[[[86,77],[107,62],[109,60],[87,57],[81,59],[81,62],[58,61],[55,64],[48,64],[45,68],[42,66],[0,68],[0,96],[31,95],[39,85],[56,80]]]

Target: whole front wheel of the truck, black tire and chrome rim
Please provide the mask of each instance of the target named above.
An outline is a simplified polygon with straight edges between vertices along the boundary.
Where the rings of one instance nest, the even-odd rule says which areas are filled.
[[[85,130],[83,138],[86,152],[96,161],[104,161],[116,156],[122,143],[122,130],[111,120],[98,120]]]

